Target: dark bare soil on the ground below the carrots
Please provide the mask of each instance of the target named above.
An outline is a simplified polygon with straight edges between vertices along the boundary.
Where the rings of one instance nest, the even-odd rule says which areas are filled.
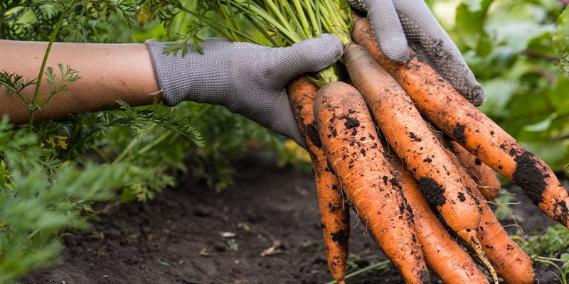
[[[176,188],[149,202],[105,207],[92,229],[63,236],[58,266],[21,282],[330,282],[312,175],[259,163],[255,157],[237,168],[235,185],[220,193],[186,175]],[[554,224],[516,193],[522,202],[515,207],[516,219],[526,234]],[[363,225],[356,217],[351,221],[351,265],[363,268],[385,260]],[[351,271],[357,269],[353,266]],[[348,283],[401,283],[393,268],[381,272],[363,273]],[[551,269],[536,265],[536,283],[560,281]]]

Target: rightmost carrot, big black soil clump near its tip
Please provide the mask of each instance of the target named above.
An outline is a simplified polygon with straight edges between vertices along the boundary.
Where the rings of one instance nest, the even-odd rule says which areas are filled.
[[[373,40],[367,18],[354,23],[352,37],[399,82],[423,116],[482,163],[521,187],[548,217],[569,225],[569,195],[541,158],[464,99],[413,50],[405,64],[385,58]]]

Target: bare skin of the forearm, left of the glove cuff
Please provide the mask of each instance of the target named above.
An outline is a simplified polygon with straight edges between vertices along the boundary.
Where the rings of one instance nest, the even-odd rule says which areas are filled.
[[[47,43],[0,40],[0,70],[33,80],[46,48]],[[78,70],[81,79],[68,83],[69,92],[55,94],[48,107],[36,111],[36,121],[97,111],[116,104],[117,99],[134,106],[151,104],[156,96],[161,99],[144,44],[54,43],[47,66],[57,70],[58,63]],[[45,81],[41,85],[41,92],[48,94],[50,86]],[[30,86],[23,94],[31,98],[33,89]],[[0,116],[4,114],[16,124],[28,120],[28,109],[21,99],[0,86]]]

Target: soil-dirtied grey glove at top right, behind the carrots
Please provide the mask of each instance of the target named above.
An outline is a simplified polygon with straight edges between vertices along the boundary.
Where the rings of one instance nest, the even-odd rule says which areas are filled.
[[[381,51],[394,62],[409,60],[408,45],[475,106],[484,90],[462,54],[422,0],[348,0],[368,13]]]

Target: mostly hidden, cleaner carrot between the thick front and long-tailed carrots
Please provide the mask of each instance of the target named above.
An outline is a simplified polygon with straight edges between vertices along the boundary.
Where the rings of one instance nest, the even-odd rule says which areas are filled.
[[[400,185],[403,195],[411,209],[413,221],[417,226],[420,241],[427,266],[439,275],[442,283],[488,283],[484,273],[480,271],[469,254],[452,239],[434,212],[431,211],[427,200],[422,196],[417,180],[411,176],[401,160],[390,155],[390,164],[400,173]]]

